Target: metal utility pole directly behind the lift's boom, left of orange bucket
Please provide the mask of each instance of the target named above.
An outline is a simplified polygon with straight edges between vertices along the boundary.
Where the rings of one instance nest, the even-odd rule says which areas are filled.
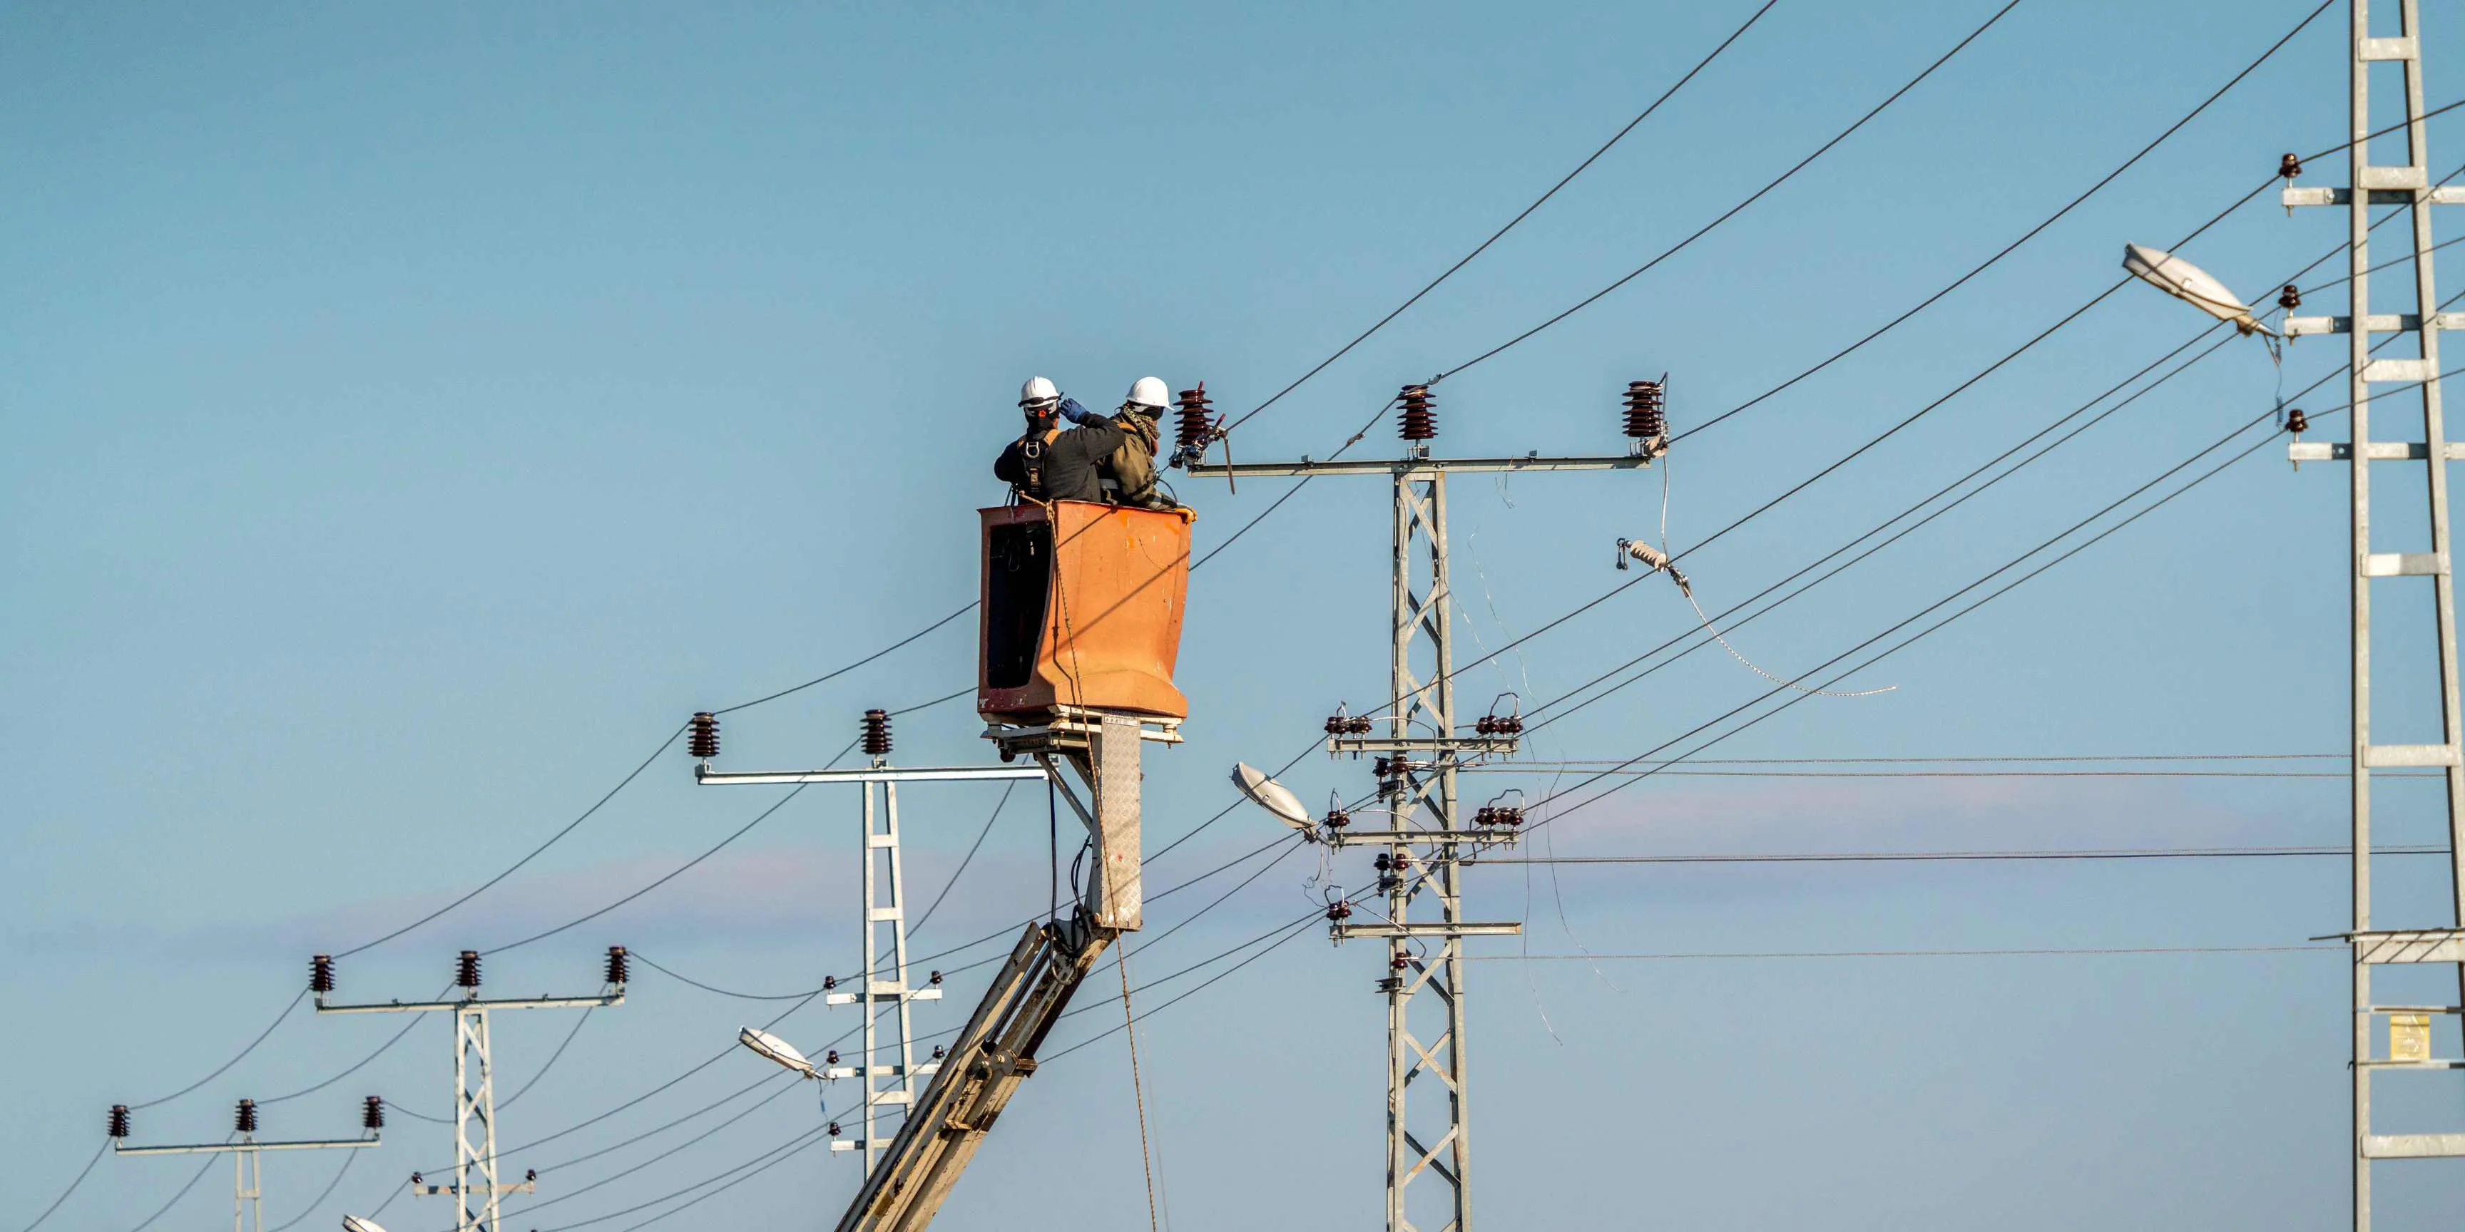
[[[853,1077],[860,1082],[863,1099],[863,1131],[858,1141],[831,1138],[831,1151],[863,1151],[865,1175],[873,1175],[880,1151],[890,1148],[890,1136],[897,1126],[887,1126],[885,1109],[915,1109],[917,1079],[929,1077],[942,1069],[942,1050],[934,1050],[934,1060],[917,1064],[915,1060],[915,1030],[907,1020],[907,1003],[912,1000],[942,1000],[942,973],[934,971],[924,988],[912,988],[907,983],[907,880],[900,867],[900,784],[942,784],[942,781],[981,781],[981,779],[1043,779],[1043,766],[949,766],[949,769],[892,769],[890,766],[890,715],[880,710],[868,710],[863,719],[865,756],[873,761],[868,769],[850,771],[776,771],[776,774],[722,774],[710,769],[710,759],[720,754],[720,724],[710,712],[693,717],[693,744],[688,752],[698,759],[693,779],[703,786],[747,786],[747,784],[855,784],[863,788],[858,830],[858,860],[863,860],[863,902],[858,904],[858,939],[863,954],[860,976],[853,993],[831,991],[838,986],[836,976],[823,978],[823,1003],[826,1005],[860,1005],[863,1010],[863,1052],[858,1052],[858,1064],[838,1064],[826,1060],[816,1072],[826,1079]],[[875,791],[875,786],[880,791]],[[882,958],[890,961],[890,978],[880,976]],[[890,1005],[892,1037],[882,1040],[882,1005]],[[836,1057],[836,1055],[833,1055]]]

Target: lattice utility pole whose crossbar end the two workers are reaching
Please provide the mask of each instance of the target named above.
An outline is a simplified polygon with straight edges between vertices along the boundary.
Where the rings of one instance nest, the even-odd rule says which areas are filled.
[[[1447,567],[1447,476],[1449,473],[1526,473],[1526,471],[1634,471],[1652,466],[1666,441],[1661,384],[1634,382],[1627,394],[1627,434],[1634,439],[1617,456],[1543,458],[1432,458],[1437,409],[1427,384],[1408,384],[1398,394],[1405,456],[1393,461],[1309,461],[1297,463],[1223,463],[1193,461],[1213,436],[1200,392],[1181,394],[1181,458],[1191,476],[1232,478],[1314,478],[1383,476],[1395,493],[1393,520],[1393,594],[1390,660],[1395,710],[1390,715],[1336,715],[1326,719],[1329,754],[1378,754],[1378,788],[1393,813],[1390,830],[1348,830],[1329,825],[1336,845],[1375,843],[1385,919],[1353,922],[1346,904],[1329,907],[1329,934],[1336,941],[1385,941],[1385,973],[1378,991],[1388,998],[1388,1148],[1385,1148],[1385,1227],[1415,1232],[1408,1190],[1420,1178],[1437,1178],[1442,1202],[1422,1210],[1440,1215],[1440,1232],[1472,1230],[1472,1111],[1467,1096],[1464,1042],[1464,936],[1514,936],[1521,924],[1481,924],[1464,919],[1462,848],[1511,843],[1511,816],[1521,808],[1481,808],[1467,828],[1459,816],[1454,774],[1467,754],[1491,756],[1516,749],[1521,717],[1486,715],[1474,732],[1462,732],[1454,710],[1454,589]],[[1649,429],[1649,431],[1644,431]],[[1425,564],[1422,564],[1425,562]],[[1385,734],[1375,737],[1373,722]],[[1427,818],[1427,821],[1422,821]],[[1504,825],[1501,825],[1504,823]],[[1415,865],[1420,872],[1415,872]],[[1430,892],[1437,899],[1432,919],[1410,919],[1412,899]],[[1432,1099],[1410,1101],[1417,1079],[1437,1082]],[[1435,1111],[1430,1111],[1435,1106]]]

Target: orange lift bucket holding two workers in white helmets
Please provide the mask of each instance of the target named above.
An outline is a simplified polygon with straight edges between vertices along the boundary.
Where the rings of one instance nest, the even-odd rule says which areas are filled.
[[[1191,715],[1191,700],[1173,687],[1191,594],[1191,510],[1055,500],[976,513],[979,715],[1040,722],[1055,705]]]

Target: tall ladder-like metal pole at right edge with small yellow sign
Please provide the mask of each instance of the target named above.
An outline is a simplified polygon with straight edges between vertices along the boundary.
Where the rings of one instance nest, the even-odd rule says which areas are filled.
[[[2389,963],[2465,963],[2465,929],[2374,929],[2371,926],[2371,771],[2394,766],[2440,766],[2448,786],[2448,840],[2450,840],[2450,919],[2465,924],[2465,732],[2458,715],[2458,628],[2455,628],[2455,577],[2450,572],[2448,537],[2448,463],[2458,461],[2455,444],[2448,441],[2440,421],[2440,330],[2465,328],[2465,315],[2438,310],[2433,281],[2433,205],[2465,205],[2465,190],[2430,185],[2430,153],[2423,128],[2423,37],[2421,0],[2398,0],[2396,37],[2371,34],[2371,2],[2352,0],[2352,57],[2347,62],[2352,81],[2352,145],[2347,170],[2352,187],[2292,187],[2300,163],[2285,155],[2285,205],[2342,205],[2349,219],[2352,259],[2352,310],[2344,318],[2288,318],[2288,338],[2305,333],[2344,333],[2349,345],[2349,419],[2352,441],[2302,444],[2295,441],[2295,461],[2344,461],[2352,480],[2352,554],[2347,557],[2354,623],[2352,623],[2352,724],[2354,724],[2354,922],[2342,939],[2354,954],[2354,1003],[2352,1003],[2352,1077],[2354,1077],[2354,1232],[2371,1227],[2371,1163],[2389,1158],[2453,1158],[2465,1156],[2465,1133],[2374,1133],[2371,1079],[2381,1072],[2445,1072],[2455,1060],[2433,1060],[2428,1047],[2430,1015],[2458,1015],[2460,1005],[2381,1005],[2371,1000],[2371,968]],[[2398,62],[2403,67],[2406,108],[2406,163],[2374,165],[2371,126],[2371,64]],[[2371,207],[2401,205],[2411,214],[2411,264],[2413,298],[2406,313],[2371,310]],[[2394,261],[2391,261],[2394,264]],[[2371,357],[2374,333],[2413,333],[2418,357]],[[2423,394],[2423,439],[2374,441],[2371,439],[2371,387],[2418,384]],[[2430,490],[2430,552],[2374,552],[2371,549],[2371,466],[2421,461],[2428,471]],[[2371,582],[2386,577],[2426,577],[2435,606],[2438,660],[2440,660],[2440,739],[2435,744],[2384,744],[2371,729]],[[2465,993],[2465,966],[2458,968],[2460,993]],[[2465,998],[2460,998],[2465,1000]],[[2389,1055],[2374,1047],[2379,1020],[2389,1020]]]

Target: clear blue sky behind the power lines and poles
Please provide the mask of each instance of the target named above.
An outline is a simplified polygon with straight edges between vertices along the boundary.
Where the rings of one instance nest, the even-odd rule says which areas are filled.
[[[1782,0],[1617,150],[1388,330],[1240,431],[1242,458],[1326,456],[1400,382],[1521,333],[1713,219],[1982,22],[1977,0]],[[1440,387],[1449,453],[1615,451],[1624,382],[1671,372],[1679,429],[1831,355],[2019,237],[2248,64],[2310,2],[2024,0],[1814,168],[1597,306]],[[32,1220],[113,1101],[212,1072],[306,958],[392,931],[503,870],[693,710],[821,675],[966,604],[974,508],[1048,375],[1109,404],[1139,375],[1247,409],[1514,217],[1750,5],[17,5],[0,15],[0,991],[17,1116],[0,1207]],[[2433,20],[2445,15],[2433,12]],[[2428,32],[2433,103],[2458,30]],[[2344,131],[2342,7],[2011,259],[1819,377],[1681,444],[1689,545],[2061,320]],[[2433,163],[2453,126],[2433,123]],[[2307,182],[2339,182],[2334,158]],[[2342,214],[2258,200],[2186,254],[2246,296],[2329,251]],[[2324,266],[2334,269],[2334,264]],[[2327,281],[2312,274],[2307,281]],[[2386,281],[2384,281],[2386,283]],[[2381,291],[2394,296],[2394,288]],[[2339,291],[2317,310],[2344,310]],[[2381,303],[2381,310],[2391,310]],[[1711,611],[1910,505],[2157,360],[2199,320],[2125,288],[1686,569]],[[2332,372],[2231,345],[1733,641],[1807,670]],[[2342,402],[2342,382],[2305,402]],[[2403,402],[2381,424],[2403,424]],[[2337,421],[2327,436],[2342,434]],[[2381,429],[2391,434],[2391,429]],[[2251,436],[2255,439],[2255,436]],[[2248,441],[2248,439],[2246,439]],[[1363,453],[1393,448],[1378,426]],[[2418,547],[2384,480],[2389,547]],[[1183,480],[1198,547],[1282,495]],[[2418,490],[2418,488],[2411,488]],[[1632,574],[1659,473],[1459,480],[1462,646],[1494,648]],[[1849,687],[1706,756],[2324,754],[2344,747],[2344,483],[2275,446]],[[1385,687],[1385,495],[1326,480],[1193,577],[1188,747],[1149,766],[1151,848]],[[2381,591],[2394,594],[2394,591]],[[2435,729],[2428,604],[2384,599],[2381,722]],[[1696,626],[1634,586],[1464,675],[1558,695]],[[860,710],[964,687],[971,618],[828,685],[730,715],[737,769],[826,761]],[[1536,737],[1622,759],[1765,687],[1674,668]],[[951,702],[900,759],[984,761]],[[774,793],[695,791],[668,752],[498,890],[345,963],[352,995],[424,995],[456,949],[579,917],[707,850]],[[1550,774],[1481,776],[1541,796]],[[1368,788],[1309,759],[1304,798]],[[907,801],[917,894],[998,788]],[[2435,788],[2391,784],[2394,840]],[[493,956],[500,993],[589,988],[606,944],[703,983],[786,993],[855,949],[853,801],[806,793],[592,924]],[[993,823],[919,951],[1040,909],[1028,801]],[[1178,882],[1267,843],[1232,813],[1159,860]],[[1654,779],[1531,853],[1797,853],[2344,840],[2334,779]],[[1358,887],[1366,853],[1287,855],[1134,958],[1156,978]],[[1156,907],[1178,922],[1257,862]],[[2435,860],[2389,862],[2381,917],[2445,924]],[[1514,961],[1516,954],[2300,946],[2344,926],[2334,860],[1605,865],[1469,872],[1526,919],[1472,971],[1486,1222],[2009,1227],[2236,1222],[2344,1210],[2347,1000],[2334,954],[1891,961]],[[971,961],[976,951],[949,958]],[[1178,986],[1141,993],[1163,1000]],[[1141,1074],[1171,1220],[1378,1217],[1378,954],[1306,934],[1163,1010]],[[1109,973],[1104,976],[1112,978]],[[2391,981],[2398,983],[2398,981]],[[974,988],[919,1010],[954,1027]],[[2426,998],[2443,998],[2430,986]],[[643,971],[537,1094],[528,1143],[720,1052],[784,1003]],[[1107,1008],[1067,1030],[1092,1035]],[[1114,1003],[1112,1010],[1119,1005]],[[572,1020],[498,1027],[505,1089]],[[1090,1025],[1080,1025],[1090,1023]],[[823,1045],[813,1005],[779,1030]],[[138,1138],[212,1138],[229,1101],[323,1082],[397,1030],[286,1018]],[[2438,1050],[2458,1047],[2443,1025]],[[348,1131],[360,1094],[446,1109],[446,1025],[269,1106]],[[1050,1064],[942,1225],[1129,1225],[1136,1111],[1114,1035]],[[25,1064],[39,1060],[39,1064]],[[813,1129],[727,1057],[626,1114],[508,1156],[567,1200],[508,1227],[648,1202]],[[2448,1077],[2386,1084],[2398,1129],[2458,1129]],[[843,1092],[828,1094],[838,1109]],[[269,1217],[365,1212],[446,1129],[399,1116],[333,1195],[328,1158],[266,1168]],[[1070,1175],[1055,1185],[1053,1175]],[[133,1227],[187,1165],[106,1158],[49,1227]],[[601,1178],[604,1188],[582,1190]],[[1262,1185],[1262,1178],[1272,1178]],[[796,1156],[685,1220],[813,1220],[845,1158]],[[217,1217],[219,1173],[158,1227]],[[1033,1198],[1023,1198],[1033,1195]],[[2453,1210],[2448,1165],[2384,1170],[2389,1217]],[[626,1227],[656,1215],[651,1207]],[[1306,1210],[1309,1215],[1297,1215]],[[397,1232],[446,1215],[394,1202]],[[678,1222],[680,1227],[683,1222]]]

